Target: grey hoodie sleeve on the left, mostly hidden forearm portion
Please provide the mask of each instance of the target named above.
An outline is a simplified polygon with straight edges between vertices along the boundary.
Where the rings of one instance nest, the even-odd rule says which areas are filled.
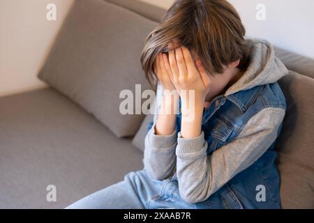
[[[150,178],[163,180],[175,172],[177,129],[167,136],[156,134],[155,126],[162,100],[162,88],[158,85],[156,106],[154,112],[154,124],[147,132],[144,142],[144,169]]]

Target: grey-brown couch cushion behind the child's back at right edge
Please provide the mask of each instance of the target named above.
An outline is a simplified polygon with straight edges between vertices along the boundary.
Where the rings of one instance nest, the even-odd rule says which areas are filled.
[[[290,72],[281,79],[287,100],[278,138],[283,208],[314,208],[314,79]]]

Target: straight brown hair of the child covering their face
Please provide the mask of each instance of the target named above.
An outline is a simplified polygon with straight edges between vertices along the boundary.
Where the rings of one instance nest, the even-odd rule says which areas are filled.
[[[240,59],[239,68],[246,68],[248,49],[246,29],[237,10],[225,0],[177,0],[161,24],[146,39],[141,56],[142,68],[150,84],[156,56],[167,52],[170,41],[195,50],[209,74],[223,73],[223,65]]]

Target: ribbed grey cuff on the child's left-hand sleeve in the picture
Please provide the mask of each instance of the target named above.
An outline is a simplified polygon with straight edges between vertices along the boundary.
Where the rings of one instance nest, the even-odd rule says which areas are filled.
[[[177,144],[177,129],[170,135],[157,135],[155,125],[151,127],[149,132],[149,144],[153,148],[170,148]]]

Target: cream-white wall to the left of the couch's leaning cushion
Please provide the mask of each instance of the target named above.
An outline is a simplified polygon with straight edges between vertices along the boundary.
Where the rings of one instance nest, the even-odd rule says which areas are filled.
[[[57,21],[46,20],[47,3]],[[73,0],[0,0],[0,96],[45,87],[36,77]]]

